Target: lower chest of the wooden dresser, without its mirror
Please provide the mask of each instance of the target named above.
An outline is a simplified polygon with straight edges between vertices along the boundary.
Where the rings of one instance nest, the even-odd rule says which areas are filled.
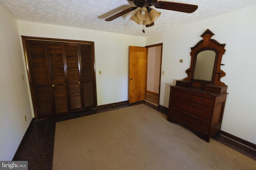
[[[203,89],[182,85],[170,87],[168,121],[186,125],[209,142],[221,128],[227,86],[206,85]]]

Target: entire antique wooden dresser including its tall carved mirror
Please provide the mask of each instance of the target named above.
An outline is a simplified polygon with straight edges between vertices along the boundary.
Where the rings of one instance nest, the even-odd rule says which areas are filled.
[[[195,131],[206,142],[218,134],[227,98],[227,88],[220,79],[226,75],[220,69],[225,45],[211,39],[207,29],[191,48],[187,78],[170,86],[168,121],[180,123]]]

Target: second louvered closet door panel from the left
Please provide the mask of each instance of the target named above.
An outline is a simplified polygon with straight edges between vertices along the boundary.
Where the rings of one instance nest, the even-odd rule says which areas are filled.
[[[49,57],[49,70],[56,114],[66,114],[68,110],[68,94],[66,87],[66,61],[62,54],[62,43],[46,42]]]

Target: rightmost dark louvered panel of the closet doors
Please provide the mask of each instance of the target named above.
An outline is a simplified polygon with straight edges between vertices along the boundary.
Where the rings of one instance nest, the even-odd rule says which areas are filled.
[[[92,45],[79,44],[79,50],[81,57],[84,108],[94,108],[94,66],[92,62]]]

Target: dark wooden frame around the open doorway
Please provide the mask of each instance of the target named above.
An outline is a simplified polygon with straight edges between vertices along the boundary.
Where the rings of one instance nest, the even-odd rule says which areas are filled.
[[[145,92],[145,99],[147,95],[147,83],[148,83],[148,49],[151,47],[158,47],[161,46],[161,59],[160,59],[160,78],[159,78],[159,90],[158,90],[158,107],[160,107],[160,90],[161,90],[161,75],[162,75],[162,57],[163,57],[163,43],[153,44],[153,45],[147,45],[145,46],[147,48],[147,56],[146,56],[146,92]]]

